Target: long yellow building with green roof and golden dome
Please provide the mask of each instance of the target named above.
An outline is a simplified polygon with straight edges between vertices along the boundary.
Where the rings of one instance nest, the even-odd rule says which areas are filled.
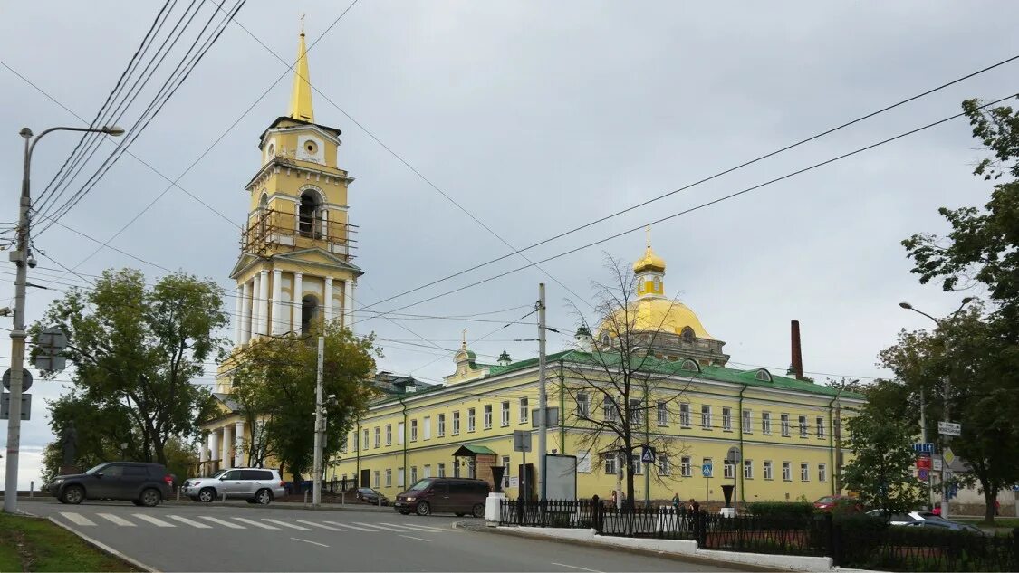
[[[635,339],[649,337],[646,369],[652,373],[635,443],[659,445],[653,465],[642,464],[639,455],[632,462],[638,473],[635,498],[649,493],[652,500],[668,500],[679,493],[683,499],[719,501],[721,485],[734,482],[746,502],[801,496],[813,501],[838,493],[834,477],[841,456],[833,428],[862,397],[763,368],[726,367],[725,343],[707,333],[693,310],[663,296],[664,271],[650,244],[634,266],[638,297],[629,308],[630,332]],[[612,437],[592,440],[592,423],[583,419],[619,415],[591,386],[601,366],[594,351],[610,353],[618,336],[608,323],[597,339],[581,328],[576,349],[547,356],[548,406],[557,407],[562,420],[548,429],[548,451],[577,456],[577,492],[585,498],[614,490],[620,460],[611,451]],[[507,495],[519,496],[524,459],[513,449],[513,434],[537,433],[532,412],[538,405],[538,361],[514,362],[503,353],[498,363],[482,364],[465,341],[454,362],[442,385],[421,388],[398,379],[406,391],[397,385],[369,407],[327,476],[356,479],[392,498],[430,476],[491,481],[490,468],[499,465],[507,468]],[[645,399],[643,391],[639,399]],[[739,464],[725,461],[733,447],[743,453]],[[536,462],[536,452],[527,455],[528,464]]]

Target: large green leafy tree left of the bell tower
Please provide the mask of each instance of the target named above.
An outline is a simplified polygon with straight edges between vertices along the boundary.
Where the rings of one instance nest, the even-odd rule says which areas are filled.
[[[222,297],[212,281],[183,273],[147,288],[139,271],[105,271],[92,288],[71,288],[50,303],[31,333],[51,326],[66,333],[74,399],[95,412],[124,413],[132,457],[165,464],[167,442],[197,438],[197,420],[213,406],[194,380],[226,343],[216,336],[228,322]]]

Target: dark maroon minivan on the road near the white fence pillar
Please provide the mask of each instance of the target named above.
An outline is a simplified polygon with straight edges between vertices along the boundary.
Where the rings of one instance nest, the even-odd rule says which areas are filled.
[[[393,507],[399,513],[418,515],[453,513],[458,517],[485,515],[488,482],[466,477],[426,477],[396,496]]]

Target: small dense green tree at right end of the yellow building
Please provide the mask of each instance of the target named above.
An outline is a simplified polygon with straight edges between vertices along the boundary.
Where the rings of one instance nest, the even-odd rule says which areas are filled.
[[[887,391],[896,392],[894,384]],[[848,446],[853,459],[844,469],[844,482],[859,492],[863,503],[886,514],[912,511],[926,498],[921,482],[913,476],[914,426],[867,404],[846,422]]]

